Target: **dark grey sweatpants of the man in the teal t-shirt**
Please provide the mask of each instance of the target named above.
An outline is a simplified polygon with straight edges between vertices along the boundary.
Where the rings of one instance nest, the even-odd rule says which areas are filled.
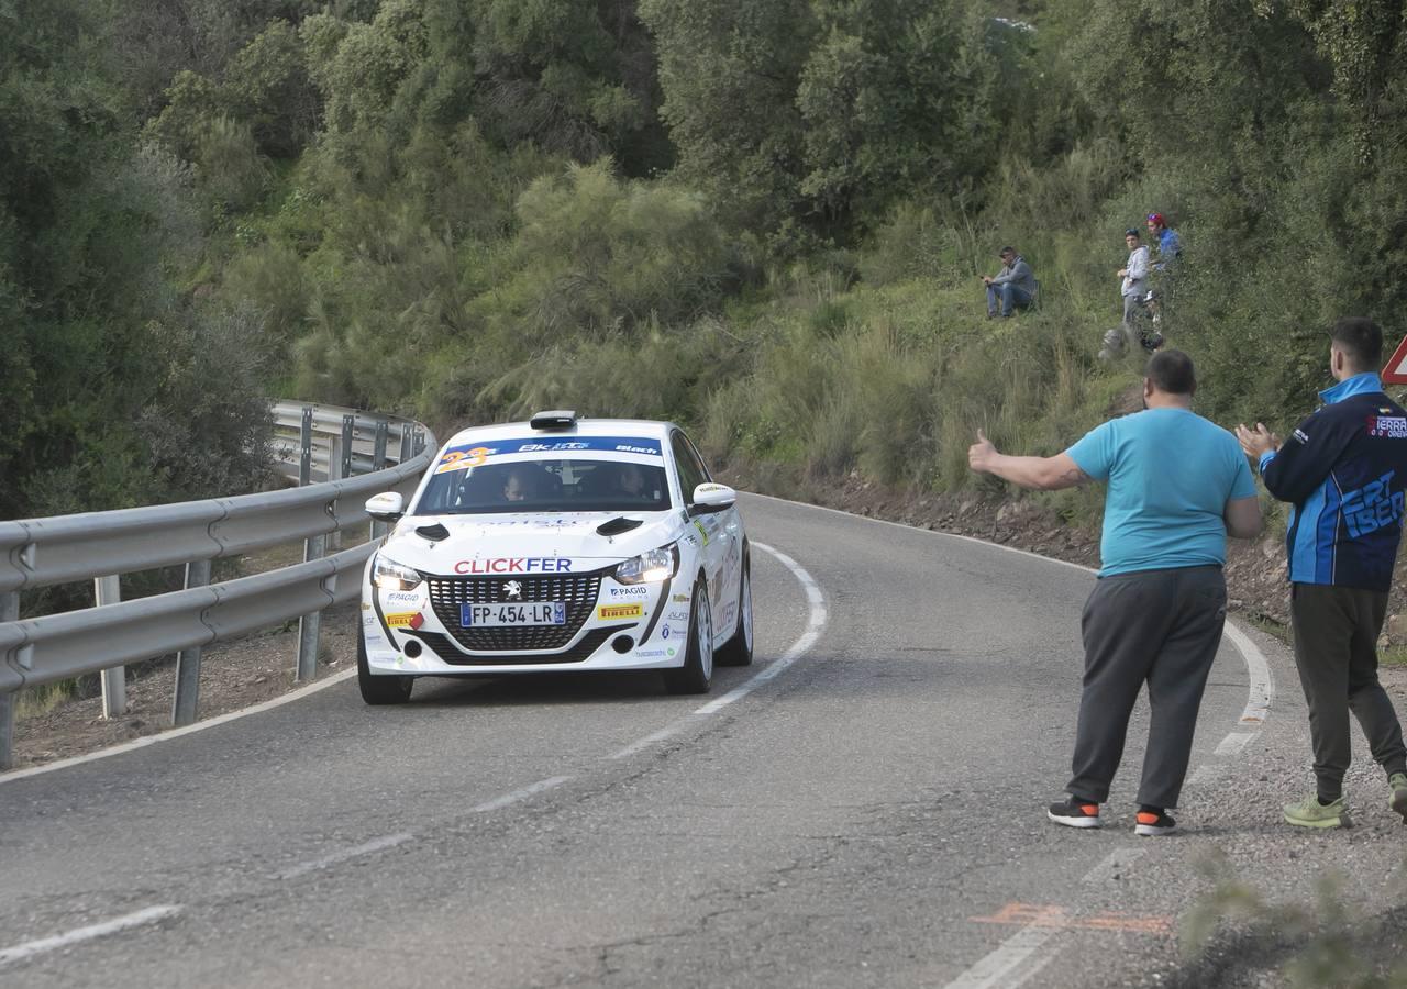
[[[1099,580],[1081,618],[1085,688],[1074,777],[1065,788],[1071,795],[1095,803],[1109,799],[1128,716],[1147,682],[1152,720],[1138,803],[1178,806],[1225,616],[1221,567],[1144,570]]]

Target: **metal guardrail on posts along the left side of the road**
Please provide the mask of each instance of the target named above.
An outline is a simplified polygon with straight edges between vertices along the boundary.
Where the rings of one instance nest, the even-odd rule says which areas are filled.
[[[277,402],[273,414],[276,466],[301,487],[0,522],[0,770],[11,765],[14,699],[25,687],[103,672],[113,716],[125,712],[121,667],[179,650],[172,717],[190,723],[200,649],[293,618],[303,623],[297,678],[312,677],[321,611],[357,595],[377,523],[371,540],[324,556],[328,540],[367,523],[367,497],[409,494],[436,445],[424,425],[394,416],[297,402]],[[298,539],[303,563],[210,584],[211,560]],[[117,601],[115,575],[180,564],[184,589]],[[98,606],[20,618],[20,591],[86,580]]]

